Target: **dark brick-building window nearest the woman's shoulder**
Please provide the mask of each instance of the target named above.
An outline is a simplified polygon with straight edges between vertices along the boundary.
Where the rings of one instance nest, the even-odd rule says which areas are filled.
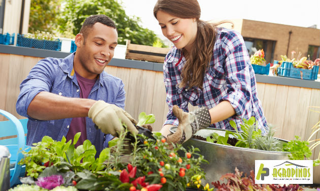
[[[263,49],[265,52],[266,62],[272,63],[276,41],[253,39],[253,38],[243,38],[243,39],[244,39],[244,44],[248,50],[249,56],[254,54],[255,51]]]

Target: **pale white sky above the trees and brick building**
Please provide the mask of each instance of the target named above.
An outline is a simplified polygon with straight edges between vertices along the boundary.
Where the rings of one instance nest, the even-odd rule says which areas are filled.
[[[118,0],[126,15],[137,16],[143,27],[162,36],[161,28],[153,16],[156,0]],[[320,28],[320,0],[198,0],[200,19],[248,19],[293,26]],[[320,34],[319,34],[320,35]]]

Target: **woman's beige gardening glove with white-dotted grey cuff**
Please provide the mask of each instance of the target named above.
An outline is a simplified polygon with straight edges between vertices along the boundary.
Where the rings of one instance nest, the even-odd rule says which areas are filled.
[[[190,139],[197,131],[207,128],[211,123],[211,117],[207,107],[186,113],[175,105],[172,111],[179,120],[179,126],[174,134],[168,135],[167,141],[171,143],[182,144]]]

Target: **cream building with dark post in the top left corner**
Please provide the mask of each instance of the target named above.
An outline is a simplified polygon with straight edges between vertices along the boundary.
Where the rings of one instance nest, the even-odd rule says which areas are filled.
[[[31,0],[0,0],[0,34],[28,33]]]

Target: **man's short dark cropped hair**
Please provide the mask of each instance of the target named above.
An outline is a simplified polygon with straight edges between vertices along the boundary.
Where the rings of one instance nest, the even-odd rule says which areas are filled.
[[[106,15],[91,15],[84,20],[84,22],[81,26],[81,29],[80,29],[80,33],[84,36],[84,38],[86,38],[89,30],[97,22],[100,22],[104,25],[115,28],[117,30],[115,23],[108,16],[106,16]]]

